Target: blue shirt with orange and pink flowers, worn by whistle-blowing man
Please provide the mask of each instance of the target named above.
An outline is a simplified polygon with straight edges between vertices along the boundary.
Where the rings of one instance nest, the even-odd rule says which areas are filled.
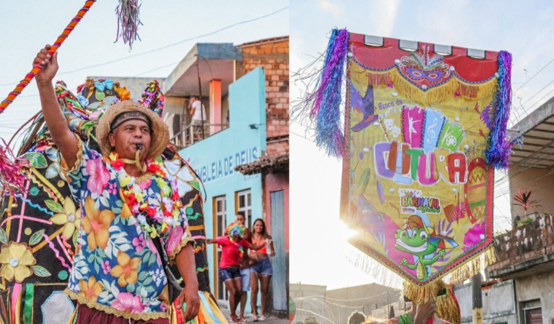
[[[102,156],[79,143],[69,186],[80,201],[81,226],[68,295],[134,320],[168,318],[160,258],[171,264],[182,247],[194,243],[176,180],[153,161],[147,161],[151,173],[136,179],[116,155]],[[160,239],[164,255],[153,239]]]

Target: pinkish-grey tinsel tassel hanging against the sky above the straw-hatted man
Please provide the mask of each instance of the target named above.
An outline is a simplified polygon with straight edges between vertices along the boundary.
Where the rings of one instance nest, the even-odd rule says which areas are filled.
[[[140,40],[138,33],[139,25],[142,25],[139,17],[140,6],[137,0],[119,0],[119,4],[115,8],[115,14],[117,15],[117,35],[115,41],[121,36],[123,43],[129,43],[129,50],[133,47],[133,41],[136,39]]]

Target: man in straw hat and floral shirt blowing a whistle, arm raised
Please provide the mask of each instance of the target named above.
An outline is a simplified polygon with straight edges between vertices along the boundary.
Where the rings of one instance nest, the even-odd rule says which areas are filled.
[[[191,320],[199,309],[194,240],[177,182],[154,160],[167,147],[167,126],[140,104],[121,101],[100,118],[101,153],[88,148],[60,110],[52,85],[57,53],[50,56],[49,48],[33,63],[44,65],[36,76],[44,119],[68,166],[71,194],[80,201],[80,210],[68,216],[81,220],[66,289],[79,303],[76,323],[169,323],[162,258],[183,276],[177,308],[186,302],[183,319]]]

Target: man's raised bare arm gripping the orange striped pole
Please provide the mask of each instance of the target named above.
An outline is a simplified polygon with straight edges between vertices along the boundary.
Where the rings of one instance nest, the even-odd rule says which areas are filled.
[[[63,112],[61,112],[54,85],[52,84],[52,80],[56,72],[58,72],[58,52],[50,55],[48,53],[50,47],[50,45],[44,46],[33,60],[33,65],[44,65],[37,76],[35,76],[35,80],[37,81],[44,121],[50,130],[54,143],[64,157],[65,163],[71,169],[77,160],[77,150],[79,147],[75,135],[69,130],[67,119],[65,119]]]

